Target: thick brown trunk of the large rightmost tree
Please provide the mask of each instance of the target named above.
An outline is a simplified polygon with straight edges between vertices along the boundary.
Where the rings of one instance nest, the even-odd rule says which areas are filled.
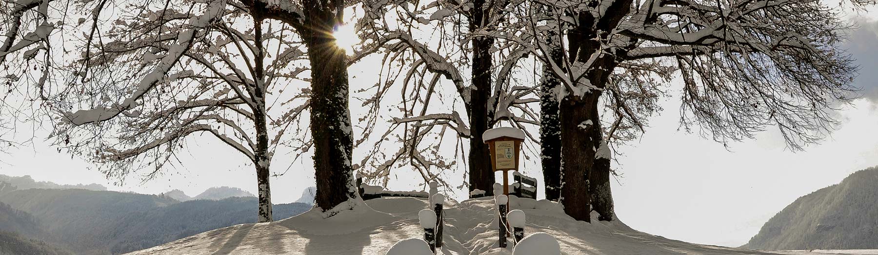
[[[579,13],[579,27],[568,33],[571,59],[586,62],[601,50],[601,41],[608,39],[611,31],[630,10],[631,1],[614,1],[606,15],[594,18],[590,12]],[[600,38],[601,41],[594,40]],[[613,219],[612,194],[609,189],[608,154],[597,160],[601,149],[603,131],[598,110],[601,91],[606,88],[609,74],[618,65],[612,54],[605,53],[594,60],[587,70],[592,89],[582,96],[568,95],[561,101],[562,173],[561,188],[565,212],[580,221],[591,221],[591,207],[601,216],[600,220]],[[603,153],[601,153],[603,154]]]

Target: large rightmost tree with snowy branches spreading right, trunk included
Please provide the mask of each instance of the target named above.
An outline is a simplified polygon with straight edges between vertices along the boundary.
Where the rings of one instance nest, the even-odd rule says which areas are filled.
[[[530,44],[558,79],[560,200],[579,220],[589,220],[592,206],[612,220],[609,145],[643,131],[673,69],[684,81],[681,125],[722,143],[774,125],[801,149],[831,130],[832,106],[855,90],[856,68],[838,48],[847,25],[817,1],[535,3],[517,15],[528,32],[554,31],[566,43],[496,36]],[[874,3],[853,1],[866,4]]]

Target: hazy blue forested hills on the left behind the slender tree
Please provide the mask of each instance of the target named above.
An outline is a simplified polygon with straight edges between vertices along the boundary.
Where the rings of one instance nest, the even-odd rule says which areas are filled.
[[[76,254],[125,253],[206,230],[256,222],[255,197],[177,202],[160,195],[26,189],[0,195],[0,202],[39,219],[43,230],[52,235],[48,239]],[[278,204],[274,217],[283,219],[310,208],[302,203]]]

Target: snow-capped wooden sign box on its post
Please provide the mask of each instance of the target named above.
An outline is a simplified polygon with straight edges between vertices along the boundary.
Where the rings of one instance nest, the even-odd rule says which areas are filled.
[[[488,144],[491,152],[493,171],[503,171],[503,195],[509,195],[508,171],[518,171],[518,152],[522,150],[524,131],[511,127],[493,128],[482,133],[482,141]]]

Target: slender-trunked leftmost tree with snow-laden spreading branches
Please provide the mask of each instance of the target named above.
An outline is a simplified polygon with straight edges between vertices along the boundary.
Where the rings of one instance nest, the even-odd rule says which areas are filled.
[[[90,7],[100,20],[104,4]],[[80,92],[66,100],[76,111],[55,136],[103,163],[109,178],[151,167],[140,173],[148,180],[186,138],[207,134],[252,163],[259,222],[271,221],[271,159],[309,104],[291,84],[307,70],[300,40],[224,0],[130,8],[115,11],[109,28],[88,29],[68,89]]]

